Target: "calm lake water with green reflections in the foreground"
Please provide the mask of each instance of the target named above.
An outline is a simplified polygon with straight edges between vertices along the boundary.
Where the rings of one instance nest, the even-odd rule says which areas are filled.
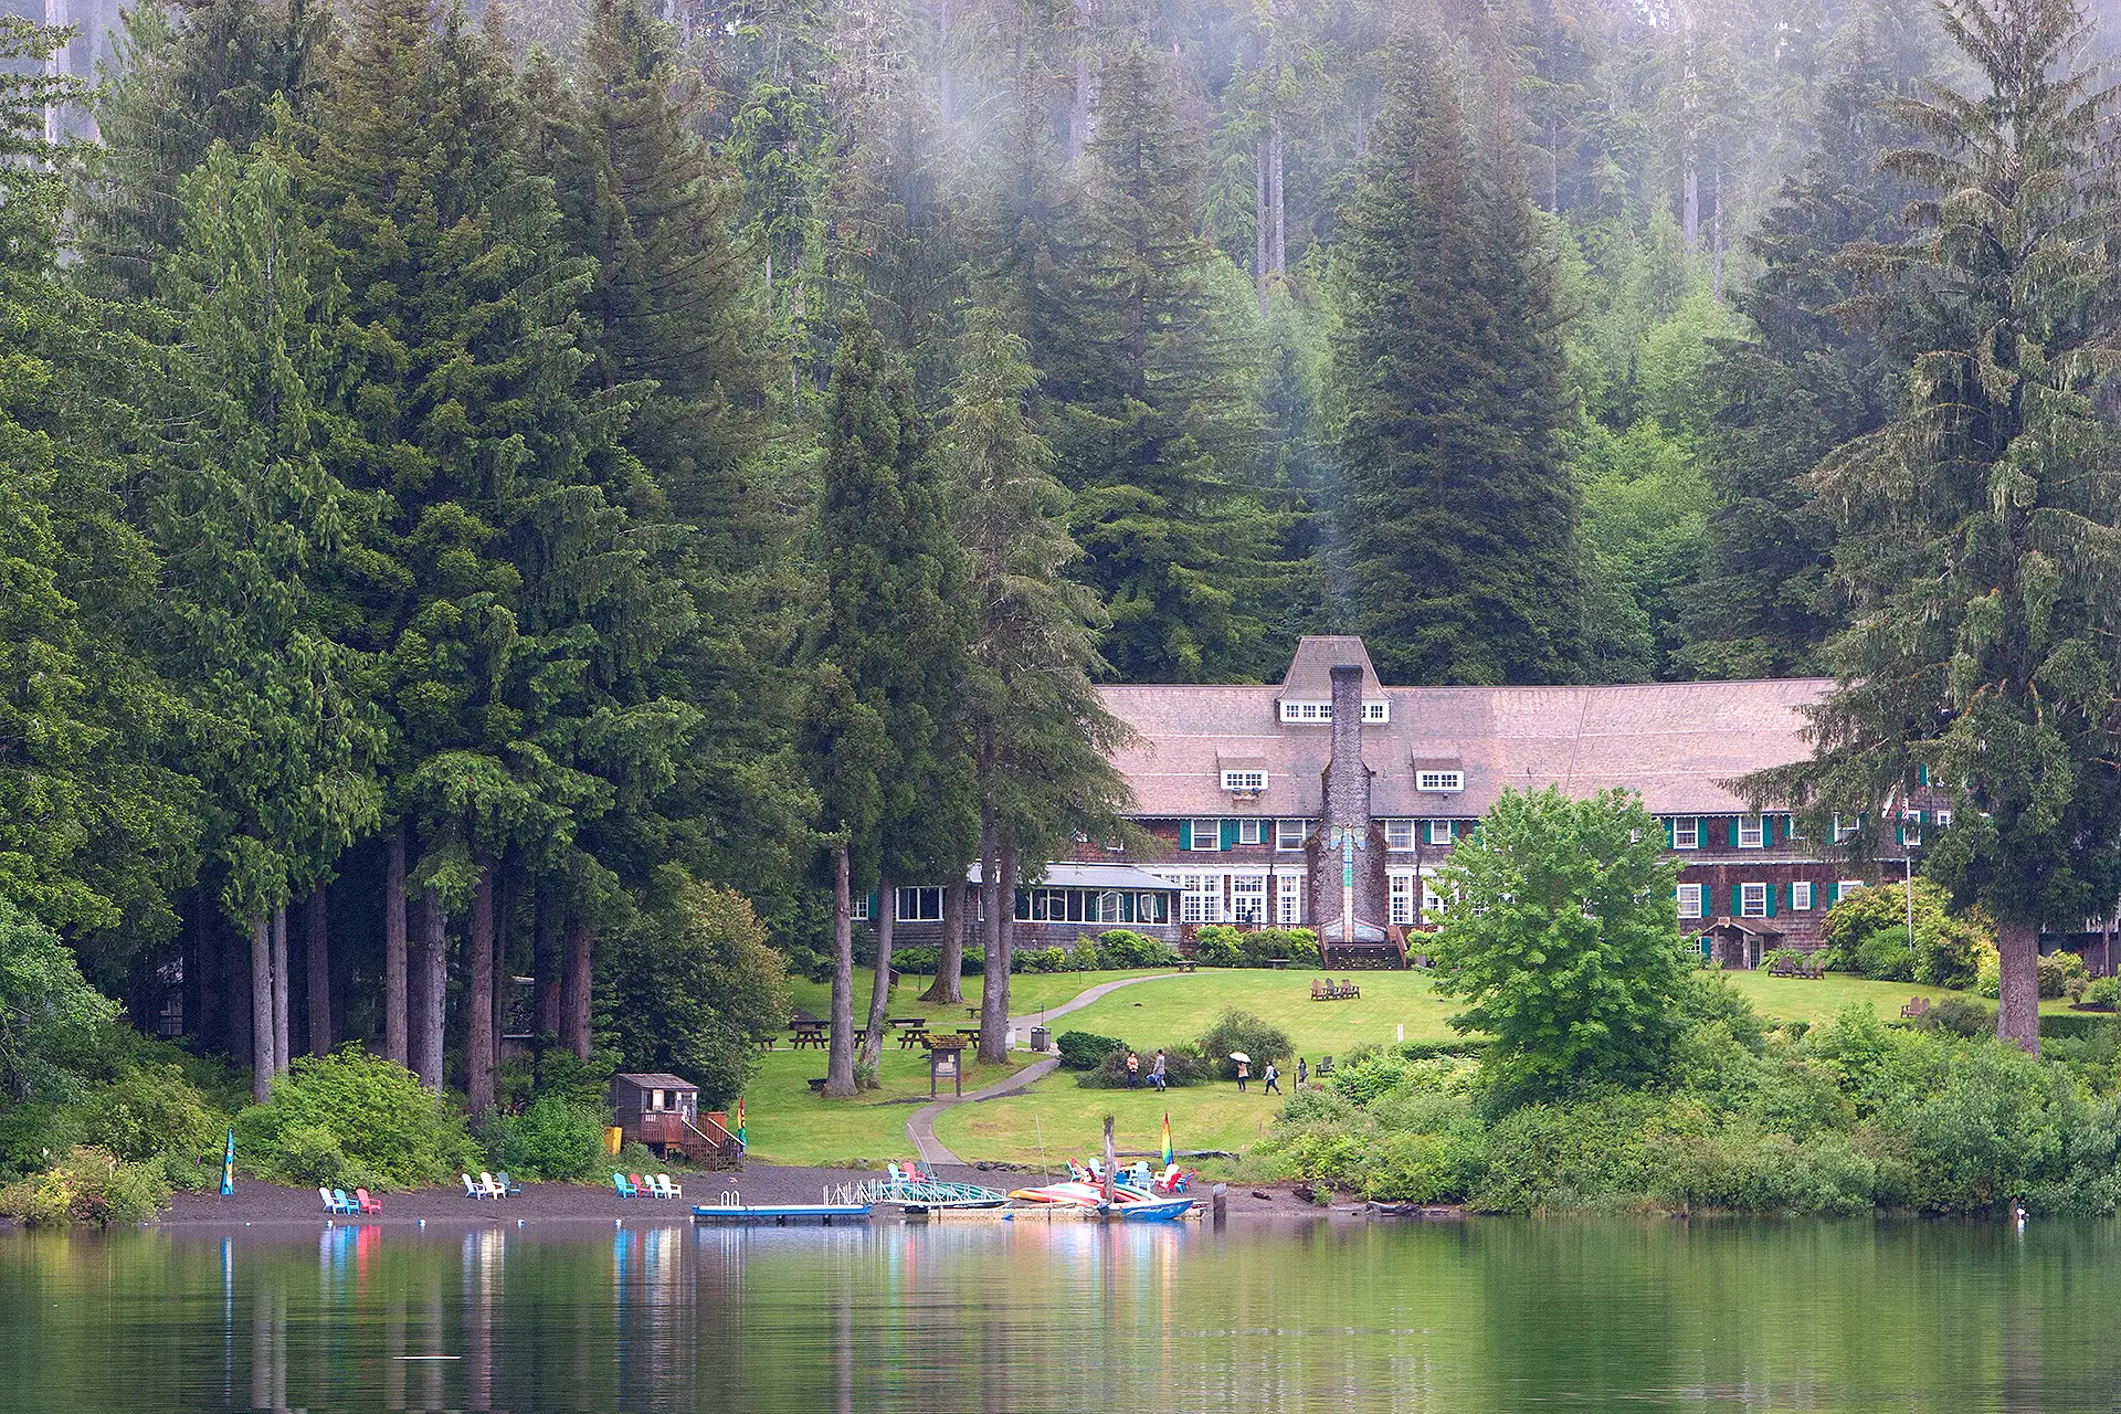
[[[2121,1227],[0,1232],[4,1410],[2113,1410]]]

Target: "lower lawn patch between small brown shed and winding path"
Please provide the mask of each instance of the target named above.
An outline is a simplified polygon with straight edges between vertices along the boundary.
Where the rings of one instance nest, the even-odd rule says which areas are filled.
[[[1012,1075],[1031,1056],[1020,1051],[1005,1066],[982,1066],[971,1060],[971,1051],[965,1051],[965,1060],[969,1094]],[[810,1094],[810,1079],[823,1073],[825,1051],[783,1047],[759,1056],[759,1071],[744,1085],[749,1157],[761,1164],[865,1160],[870,1168],[882,1168],[884,1160],[912,1155],[906,1119],[916,1107],[904,1100],[927,1100],[927,1051],[901,1051],[895,1041],[887,1043],[880,1064],[882,1088],[865,1090],[853,1100]]]

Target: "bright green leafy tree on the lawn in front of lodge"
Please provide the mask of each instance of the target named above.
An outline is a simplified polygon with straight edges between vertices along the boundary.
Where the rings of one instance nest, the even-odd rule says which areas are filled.
[[[1453,899],[1432,956],[1451,1026],[1493,1037],[1504,1094],[1565,1094],[1654,1077],[1678,1035],[1688,971],[1663,827],[1629,793],[1504,791],[1444,867]]]

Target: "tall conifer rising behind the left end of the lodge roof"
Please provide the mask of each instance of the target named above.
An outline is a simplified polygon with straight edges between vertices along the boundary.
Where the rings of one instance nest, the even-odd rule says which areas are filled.
[[[1067,324],[1039,346],[1082,577],[1135,681],[1228,681],[1275,655],[1256,600],[1275,536],[1249,485],[1258,369],[1243,276],[1200,235],[1203,142],[1169,61],[1109,55]]]

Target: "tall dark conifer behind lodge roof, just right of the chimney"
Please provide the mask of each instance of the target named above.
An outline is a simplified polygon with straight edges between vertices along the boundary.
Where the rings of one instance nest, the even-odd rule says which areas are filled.
[[[1521,157],[1500,136],[1476,155],[1455,78],[1417,32],[1396,40],[1332,290],[1338,500],[1379,668],[1567,681],[1580,589],[1553,276]]]

